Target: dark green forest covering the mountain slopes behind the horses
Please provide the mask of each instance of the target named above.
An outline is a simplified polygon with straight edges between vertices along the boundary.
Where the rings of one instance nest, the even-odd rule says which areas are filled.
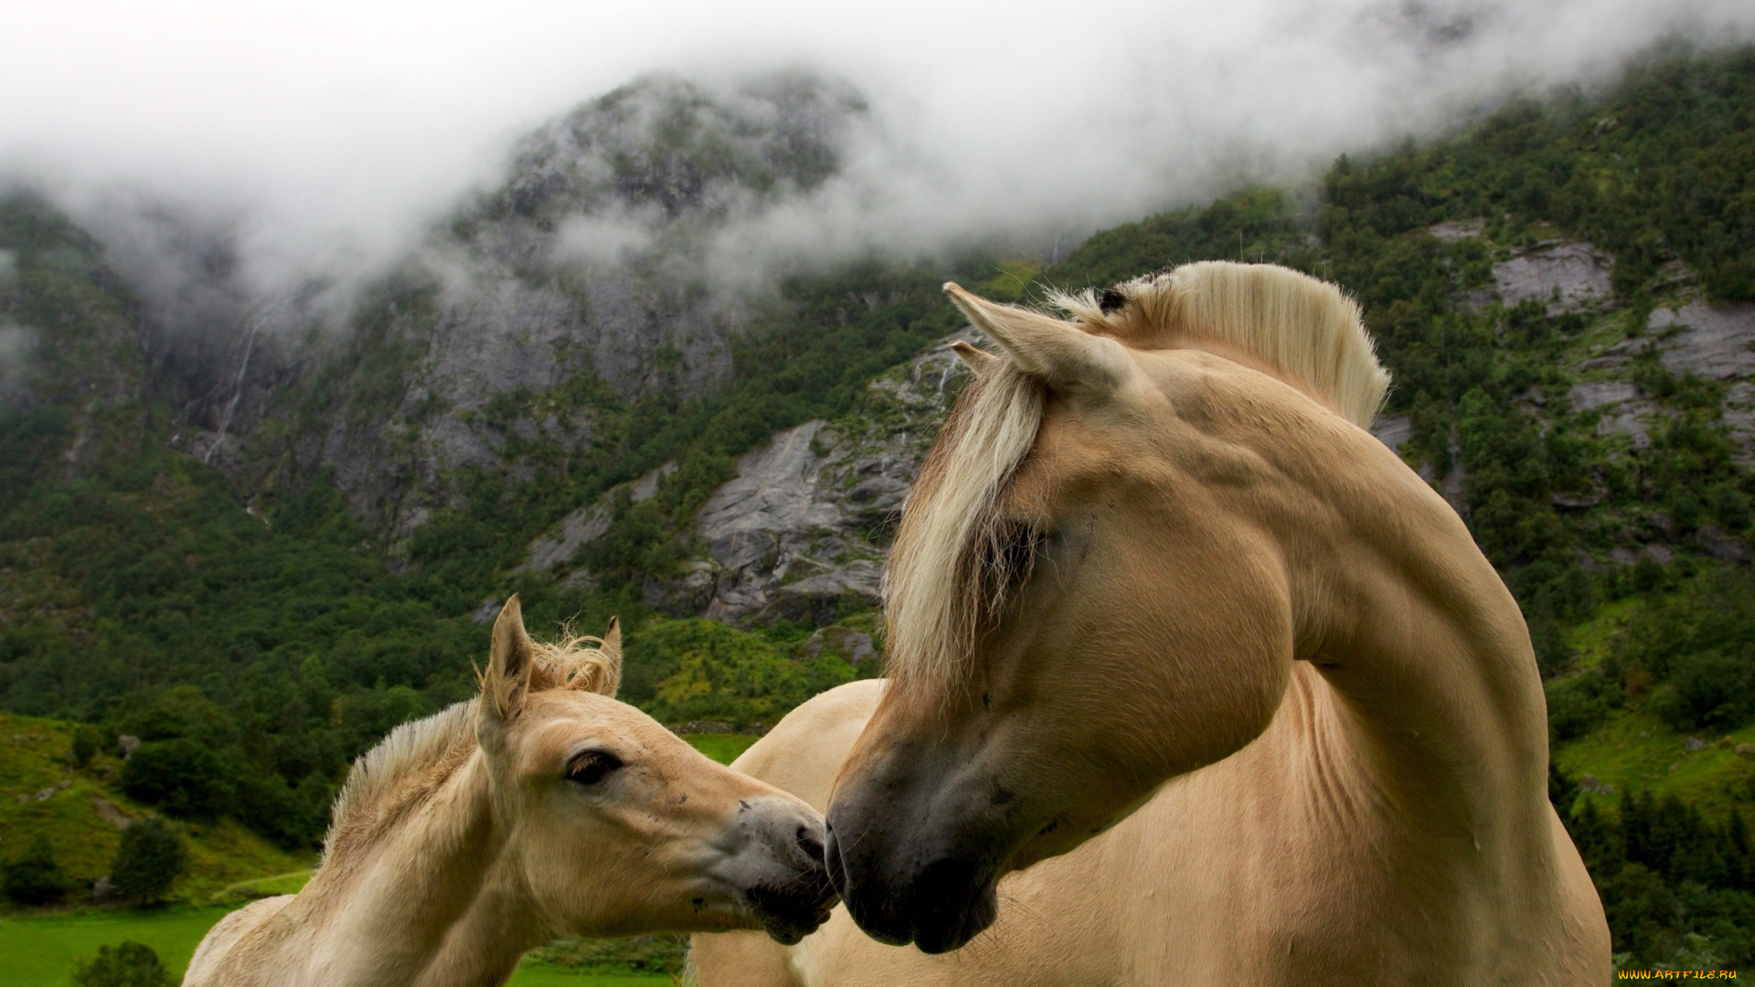
[[[1434,234],[1471,221],[1472,235]],[[1557,239],[1613,258],[1613,304],[1465,304],[1495,262]],[[1548,681],[1550,794],[1618,961],[1755,961],[1755,746],[1737,750],[1755,739],[1755,576],[1708,550],[1755,536],[1755,472],[1727,430],[1727,385],[1674,376],[1648,335],[1662,306],[1755,300],[1751,49],[1660,49],[1601,91],[1513,100],[1437,139],[1343,156],[1313,190],[1244,188],[1104,230],[1046,269],[971,253],[793,277],[711,393],[627,402],[581,376],[502,395],[488,413],[590,404],[600,434],[581,455],[534,450],[530,479],[460,478],[467,506],[421,527],[405,555],[323,474],[246,513],[225,476],[172,450],[177,409],[151,388],[86,402],[105,374],[153,372],[118,330],[139,302],[39,197],[0,200],[0,251],[12,258],[0,318],[42,334],[39,400],[0,402],[0,708],[91,724],[107,745],[137,736],[119,780],[130,797],[286,848],[321,839],[355,755],[470,694],[486,629],[467,615],[484,599],[519,592],[544,629],[593,632],[621,615],[623,697],[670,724],[770,724],[876,674],[802,648],[811,625],[662,613],[642,587],[676,574],[695,511],[739,455],[846,414],[867,383],[962,327],[941,281],[1030,302],[1204,258],[1337,281],[1395,376],[1399,451],[1434,483],[1460,476],[1458,506],[1523,606]],[[395,388],[407,357],[384,313],[433,292],[383,279],[339,365]],[[1597,379],[1581,364],[1609,342],[1627,342],[1625,376],[1658,409],[1648,443],[1571,407],[1571,388]],[[300,400],[344,385],[363,386],[318,379]],[[88,467],[63,455],[75,441],[100,448]],[[511,574],[567,511],[665,462],[679,469],[658,495],[621,497],[584,550],[595,587]],[[1664,551],[1618,562],[1630,544]],[[872,613],[834,620],[876,629]]]

